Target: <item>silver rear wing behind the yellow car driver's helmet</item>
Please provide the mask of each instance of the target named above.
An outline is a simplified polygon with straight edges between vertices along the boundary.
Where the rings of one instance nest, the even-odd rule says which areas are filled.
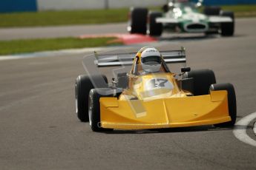
[[[186,63],[186,51],[185,48],[181,50],[160,51],[163,55],[165,63]],[[121,54],[97,54],[95,52],[94,64],[97,67],[111,67],[133,64],[134,58],[137,52],[121,53]]]

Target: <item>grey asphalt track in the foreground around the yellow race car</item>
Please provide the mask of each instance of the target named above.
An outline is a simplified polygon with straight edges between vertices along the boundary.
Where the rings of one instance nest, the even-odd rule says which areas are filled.
[[[151,45],[184,46],[189,67],[213,69],[217,82],[234,84],[240,120],[256,111],[255,30],[256,18],[246,18],[231,38],[172,35]],[[85,73],[83,56],[0,62],[1,169],[256,169],[256,148],[237,140],[233,129],[92,132],[75,115],[74,81]],[[109,78],[111,69],[103,69]],[[247,133],[256,140],[254,122]]]

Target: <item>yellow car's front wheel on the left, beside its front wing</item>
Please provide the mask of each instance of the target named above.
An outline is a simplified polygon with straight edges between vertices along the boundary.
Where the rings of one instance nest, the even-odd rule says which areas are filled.
[[[91,89],[88,97],[88,115],[91,129],[93,132],[102,132],[103,130],[113,130],[113,129],[103,129],[100,124],[100,103],[99,98],[101,97],[113,97],[113,89],[101,88],[101,89]]]

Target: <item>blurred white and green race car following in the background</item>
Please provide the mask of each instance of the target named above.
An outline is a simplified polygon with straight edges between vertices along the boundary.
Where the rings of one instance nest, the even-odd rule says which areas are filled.
[[[203,0],[169,1],[163,12],[148,12],[146,8],[131,8],[128,21],[130,33],[160,36],[163,30],[181,33],[220,33],[234,35],[234,13],[223,11],[220,7],[204,7]]]

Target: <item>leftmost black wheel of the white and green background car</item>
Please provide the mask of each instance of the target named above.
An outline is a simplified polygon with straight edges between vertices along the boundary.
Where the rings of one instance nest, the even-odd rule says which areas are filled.
[[[148,9],[134,8],[131,10],[131,30],[130,33],[147,34]]]

